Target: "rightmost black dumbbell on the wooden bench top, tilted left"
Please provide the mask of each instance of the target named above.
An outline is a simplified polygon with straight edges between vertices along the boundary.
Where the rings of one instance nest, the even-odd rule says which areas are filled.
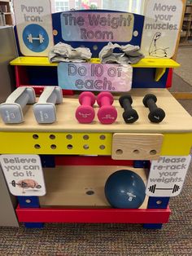
[[[155,104],[156,101],[156,96],[151,94],[145,95],[145,97],[142,99],[142,103],[145,105],[145,107],[150,109],[148,118],[151,122],[163,121],[165,117],[164,110],[157,107]]]

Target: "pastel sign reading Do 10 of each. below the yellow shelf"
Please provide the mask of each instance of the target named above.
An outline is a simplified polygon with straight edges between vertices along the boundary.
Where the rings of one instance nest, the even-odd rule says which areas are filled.
[[[59,63],[59,86],[67,90],[129,91],[133,68],[125,64]]]

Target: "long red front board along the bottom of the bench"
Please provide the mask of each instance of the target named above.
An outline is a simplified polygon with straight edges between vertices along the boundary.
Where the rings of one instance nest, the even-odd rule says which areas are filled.
[[[21,223],[168,223],[168,209],[16,209]]]

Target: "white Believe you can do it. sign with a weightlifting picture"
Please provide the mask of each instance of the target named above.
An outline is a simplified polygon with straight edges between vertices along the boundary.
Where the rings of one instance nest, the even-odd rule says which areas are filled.
[[[44,196],[46,194],[39,156],[1,155],[0,163],[12,195]]]

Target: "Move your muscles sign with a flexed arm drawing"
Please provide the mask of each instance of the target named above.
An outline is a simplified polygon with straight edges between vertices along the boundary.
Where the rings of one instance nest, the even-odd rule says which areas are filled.
[[[171,58],[179,34],[183,2],[148,0],[142,32],[142,53],[148,58]]]

